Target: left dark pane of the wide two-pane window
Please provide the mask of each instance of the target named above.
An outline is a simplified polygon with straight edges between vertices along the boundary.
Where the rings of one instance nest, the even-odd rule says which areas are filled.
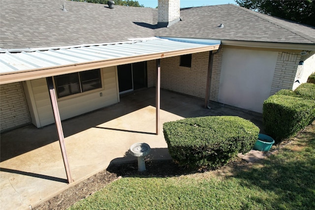
[[[54,79],[58,98],[81,92],[78,73],[64,74]]]

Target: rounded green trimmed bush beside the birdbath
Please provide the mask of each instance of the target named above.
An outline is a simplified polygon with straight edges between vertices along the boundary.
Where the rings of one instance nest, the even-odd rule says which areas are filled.
[[[259,128],[235,116],[165,122],[163,133],[172,158],[190,169],[215,169],[239,152],[252,150]]]

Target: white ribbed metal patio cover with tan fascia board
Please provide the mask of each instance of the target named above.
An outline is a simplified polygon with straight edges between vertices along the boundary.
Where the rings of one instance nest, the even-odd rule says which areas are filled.
[[[0,49],[0,84],[218,50],[220,41],[151,37],[121,43]]]

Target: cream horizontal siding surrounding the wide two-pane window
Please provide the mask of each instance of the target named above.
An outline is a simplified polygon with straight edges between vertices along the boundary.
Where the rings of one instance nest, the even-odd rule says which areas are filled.
[[[103,68],[101,73],[103,79],[103,88],[101,90],[92,90],[58,99],[62,120],[119,102],[116,67]],[[28,90],[27,98],[29,104],[31,104],[30,109],[32,109],[31,115],[34,116],[32,123],[37,127],[54,123],[46,79],[27,81],[26,86]]]

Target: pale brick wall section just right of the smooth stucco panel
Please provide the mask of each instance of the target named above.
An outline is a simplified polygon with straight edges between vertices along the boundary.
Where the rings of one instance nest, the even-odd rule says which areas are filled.
[[[301,55],[279,52],[270,95],[282,89],[292,90]]]

